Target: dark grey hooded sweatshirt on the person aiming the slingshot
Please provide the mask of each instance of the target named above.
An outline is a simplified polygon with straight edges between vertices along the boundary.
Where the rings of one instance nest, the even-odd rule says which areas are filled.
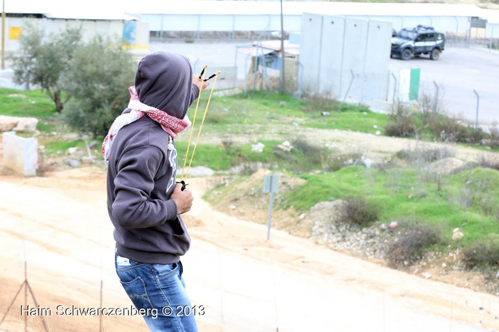
[[[142,103],[183,119],[199,88],[185,57],[158,52],[144,57],[135,75]],[[124,113],[130,112],[126,109]],[[149,264],[177,263],[191,238],[170,199],[177,151],[170,136],[147,115],[123,127],[114,139],[107,172],[107,208],[120,256]]]

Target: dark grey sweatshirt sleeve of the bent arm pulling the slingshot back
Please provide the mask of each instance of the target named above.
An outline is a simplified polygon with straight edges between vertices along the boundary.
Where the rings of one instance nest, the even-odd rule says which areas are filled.
[[[150,198],[162,162],[161,150],[153,146],[134,148],[121,156],[112,204],[113,218],[121,227],[152,227],[177,217],[177,204],[173,200]]]

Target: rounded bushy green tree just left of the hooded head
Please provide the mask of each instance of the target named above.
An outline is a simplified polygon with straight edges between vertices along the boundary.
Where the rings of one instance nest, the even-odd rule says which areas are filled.
[[[72,96],[65,122],[75,131],[105,136],[130,98],[136,64],[121,40],[96,36],[74,50],[65,88]]]

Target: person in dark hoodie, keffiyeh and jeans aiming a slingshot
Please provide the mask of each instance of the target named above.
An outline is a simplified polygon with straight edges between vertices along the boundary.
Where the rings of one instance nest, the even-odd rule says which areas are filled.
[[[176,183],[174,139],[189,127],[187,110],[207,85],[184,56],[145,56],[128,108],[102,146],[116,272],[151,331],[198,331],[195,316],[204,314],[192,307],[182,278],[180,257],[191,238],[181,215],[193,197]]]

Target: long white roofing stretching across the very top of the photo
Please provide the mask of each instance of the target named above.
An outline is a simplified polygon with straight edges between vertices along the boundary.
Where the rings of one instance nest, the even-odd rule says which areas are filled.
[[[134,14],[182,15],[278,15],[280,1],[217,0],[86,0],[68,5],[67,0],[4,0],[7,13],[36,13],[50,18],[136,19]],[[358,16],[476,16],[499,17],[499,10],[475,4],[379,3],[284,1],[284,15],[303,12]],[[499,18],[498,18],[499,21]]]

